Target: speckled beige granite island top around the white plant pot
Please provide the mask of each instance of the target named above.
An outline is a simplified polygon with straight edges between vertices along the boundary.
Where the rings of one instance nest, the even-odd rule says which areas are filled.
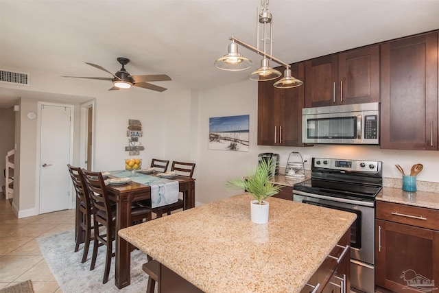
[[[249,194],[187,209],[119,235],[204,292],[300,292],[356,215],[269,198],[250,221]]]

